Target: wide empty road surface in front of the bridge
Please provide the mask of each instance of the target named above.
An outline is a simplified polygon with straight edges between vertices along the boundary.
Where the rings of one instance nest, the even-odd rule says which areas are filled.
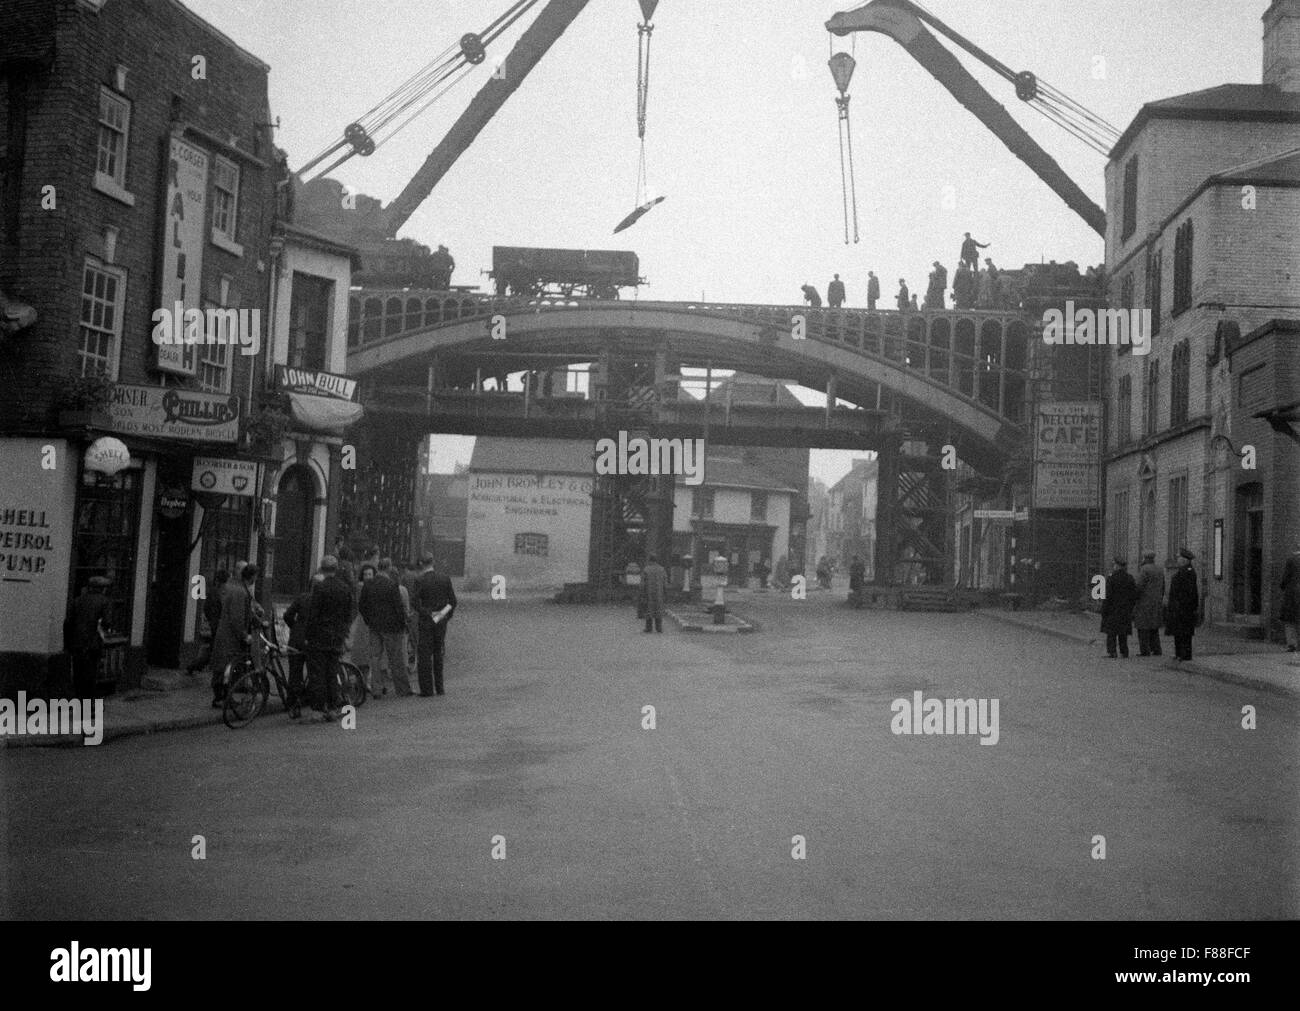
[[[1300,916],[1296,699],[974,613],[742,613],[474,603],[447,694],[355,729],[0,752],[0,917]],[[897,733],[916,691],[998,700],[996,746]]]

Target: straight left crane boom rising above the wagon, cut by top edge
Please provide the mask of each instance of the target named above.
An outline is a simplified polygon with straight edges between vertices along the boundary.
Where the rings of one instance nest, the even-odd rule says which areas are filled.
[[[550,0],[506,57],[504,73],[494,75],[474,95],[442,142],[433,149],[420,170],[398,198],[384,209],[385,230],[396,235],[407,220],[433,192],[447,170],[456,164],[497,110],[515,94],[524,78],[582,13],[589,0]]]

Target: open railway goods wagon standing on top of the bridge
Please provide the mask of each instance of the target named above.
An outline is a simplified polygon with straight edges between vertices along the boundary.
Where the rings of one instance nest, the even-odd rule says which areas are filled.
[[[637,255],[625,250],[493,246],[491,266],[498,295],[616,299],[621,288],[645,283]]]

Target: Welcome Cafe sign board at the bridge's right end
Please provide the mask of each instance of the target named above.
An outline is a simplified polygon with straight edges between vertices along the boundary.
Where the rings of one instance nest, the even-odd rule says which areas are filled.
[[[1040,404],[1034,446],[1035,508],[1086,509],[1097,504],[1101,404]]]

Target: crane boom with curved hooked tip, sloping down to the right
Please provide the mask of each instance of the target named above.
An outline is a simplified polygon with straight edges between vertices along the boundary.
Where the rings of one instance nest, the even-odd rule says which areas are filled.
[[[854,31],[879,31],[888,35],[911,55],[940,84],[942,84],[962,105],[970,109],[984,126],[1020,161],[1065,200],[1066,205],[1082,217],[1100,235],[1106,234],[1106,212],[1079,187],[1062,169],[1056,159],[1044,151],[1030,136],[1011,114],[998,103],[971,73],[958,62],[944,45],[922,23],[922,17],[944,35],[953,39],[963,49],[979,60],[1004,73],[1005,68],[979,47],[963,39],[931,14],[919,12],[907,0],[872,0],[855,10],[835,14],[827,23],[827,31],[835,35],[848,35]]]

